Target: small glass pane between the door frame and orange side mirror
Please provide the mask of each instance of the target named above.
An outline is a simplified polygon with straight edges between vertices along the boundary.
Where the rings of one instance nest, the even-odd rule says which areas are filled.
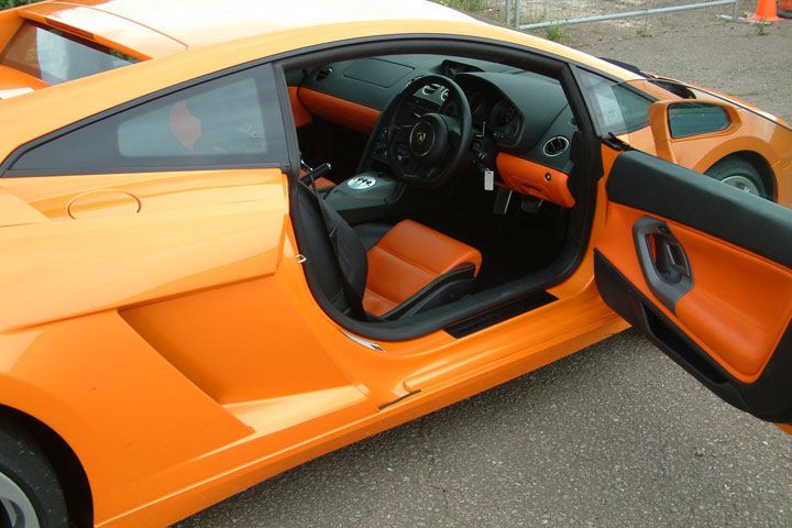
[[[591,72],[581,72],[581,78],[593,95],[594,113],[603,131],[623,134],[649,124],[649,107],[654,100],[648,95]]]

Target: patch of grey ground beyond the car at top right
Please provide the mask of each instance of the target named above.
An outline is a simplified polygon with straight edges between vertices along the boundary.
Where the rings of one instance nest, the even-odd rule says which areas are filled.
[[[566,44],[592,55],[723,91],[792,121],[792,20],[760,30],[715,16],[723,12],[730,9],[570,26],[563,33]]]

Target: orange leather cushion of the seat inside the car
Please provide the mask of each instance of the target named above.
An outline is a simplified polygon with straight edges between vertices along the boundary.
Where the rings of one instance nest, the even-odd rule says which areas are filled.
[[[404,220],[369,250],[367,260],[363,308],[381,316],[461,265],[473,264],[477,275],[482,255],[475,248]]]

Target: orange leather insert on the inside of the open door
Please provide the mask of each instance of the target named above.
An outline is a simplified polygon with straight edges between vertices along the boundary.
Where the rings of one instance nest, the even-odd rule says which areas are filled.
[[[638,262],[632,226],[647,213],[612,204],[597,249],[644,295],[736,378],[757,380],[792,317],[792,273],[745,250],[667,221],[684,248],[693,288],[675,312],[662,307]]]

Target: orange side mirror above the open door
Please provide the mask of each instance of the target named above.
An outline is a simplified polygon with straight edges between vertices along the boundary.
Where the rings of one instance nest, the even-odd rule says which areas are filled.
[[[649,107],[657,154],[673,163],[674,143],[730,134],[740,124],[737,110],[719,101],[657,101]]]

